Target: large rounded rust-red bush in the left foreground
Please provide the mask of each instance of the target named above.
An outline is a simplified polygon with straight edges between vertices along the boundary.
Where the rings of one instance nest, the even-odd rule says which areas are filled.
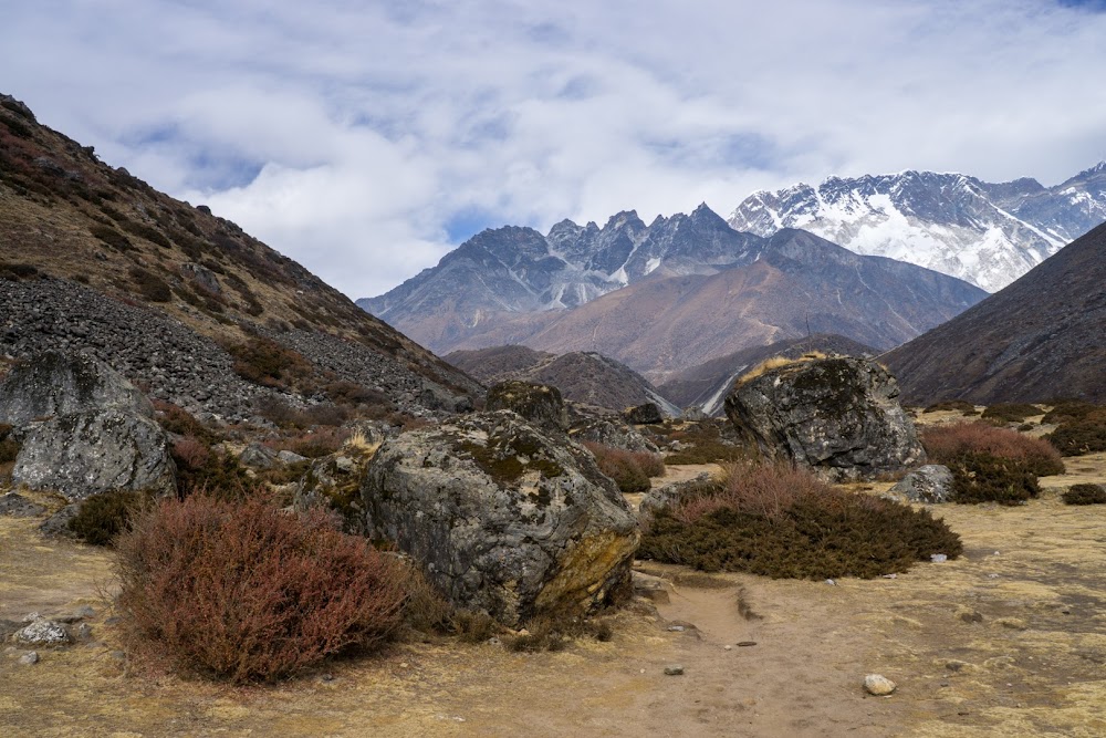
[[[372,646],[399,623],[404,569],[321,510],[251,496],[163,500],[116,542],[129,644],[236,683]]]

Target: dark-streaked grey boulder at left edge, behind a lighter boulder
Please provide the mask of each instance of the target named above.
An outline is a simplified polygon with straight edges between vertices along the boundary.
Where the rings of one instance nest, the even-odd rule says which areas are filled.
[[[108,408],[154,417],[154,406],[133,384],[85,354],[43,352],[17,364],[0,382],[0,423],[13,426]]]

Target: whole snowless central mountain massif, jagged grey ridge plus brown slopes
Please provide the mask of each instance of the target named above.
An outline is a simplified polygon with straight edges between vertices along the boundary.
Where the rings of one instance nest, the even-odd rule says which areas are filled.
[[[889,349],[983,297],[961,280],[806,231],[741,233],[702,205],[650,226],[623,212],[602,229],[562,221],[546,237],[487,230],[358,304],[441,354],[509,344],[592,351],[664,382],[812,332]]]

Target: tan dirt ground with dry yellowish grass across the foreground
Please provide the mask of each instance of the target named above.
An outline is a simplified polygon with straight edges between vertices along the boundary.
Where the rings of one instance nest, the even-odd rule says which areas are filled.
[[[252,688],[136,669],[105,622],[108,552],[0,518],[0,619],[97,613],[92,644],[40,649],[34,666],[0,654],[0,734],[1106,735],[1106,509],[1058,500],[1077,481],[1106,481],[1106,455],[1067,465],[1024,507],[937,509],[966,554],[895,579],[773,581],[643,562],[670,583],[669,602],[617,614],[607,643],[545,654],[398,644]],[[666,676],[671,665],[684,675]],[[866,696],[873,672],[897,692]]]

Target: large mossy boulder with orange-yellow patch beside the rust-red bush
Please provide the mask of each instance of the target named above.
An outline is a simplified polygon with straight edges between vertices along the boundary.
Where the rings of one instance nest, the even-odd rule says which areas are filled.
[[[367,532],[457,606],[515,626],[628,588],[637,521],[591,454],[511,412],[392,438],[362,486]]]

